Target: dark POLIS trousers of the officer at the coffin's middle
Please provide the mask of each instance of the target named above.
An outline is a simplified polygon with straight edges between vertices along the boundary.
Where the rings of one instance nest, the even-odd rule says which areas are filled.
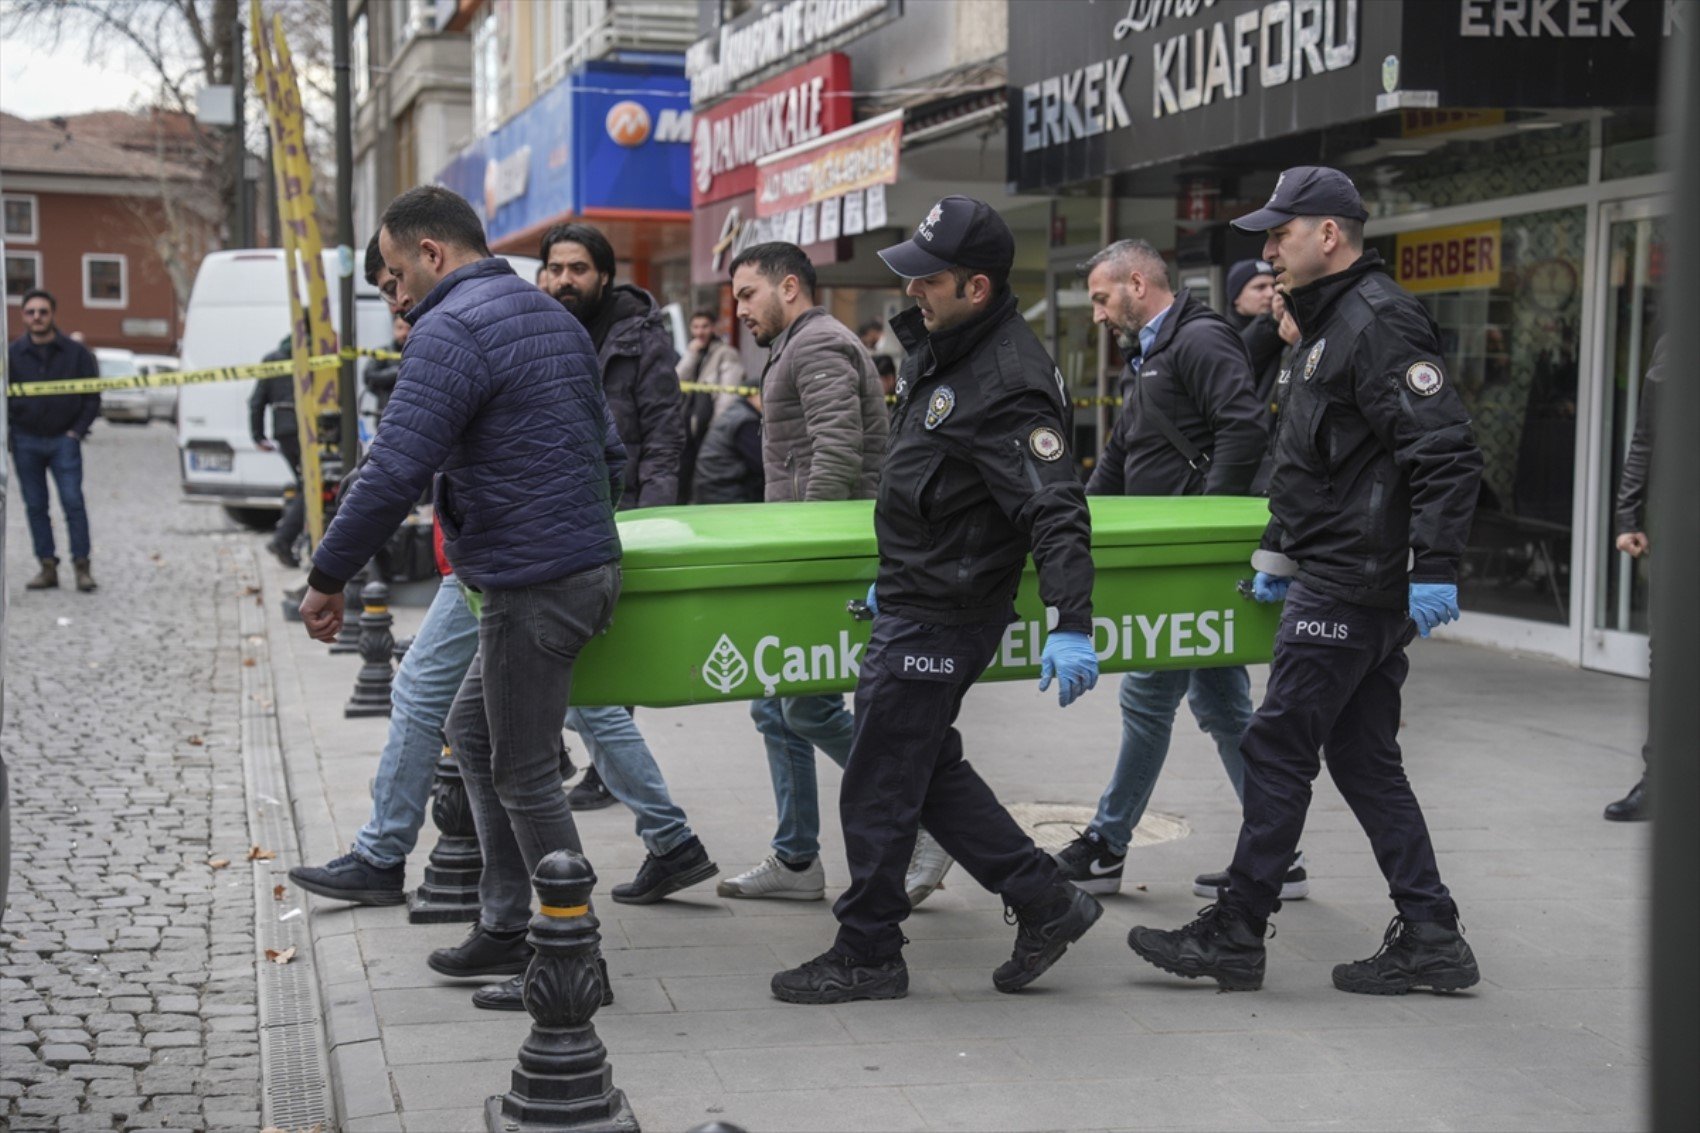
[[[899,925],[910,915],[904,878],[920,825],[1008,905],[1032,903],[1062,883],[1051,856],[962,759],[962,735],[954,726],[1003,629],[1003,623],[874,619],[838,791],[850,888],[833,914],[836,949],[847,956],[886,959],[903,951]]]

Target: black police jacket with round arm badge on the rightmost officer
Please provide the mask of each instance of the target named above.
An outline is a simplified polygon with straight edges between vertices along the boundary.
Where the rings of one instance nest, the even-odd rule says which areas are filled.
[[[1482,470],[1440,330],[1377,252],[1287,305],[1300,339],[1251,565],[1404,609],[1409,584],[1457,582]]]

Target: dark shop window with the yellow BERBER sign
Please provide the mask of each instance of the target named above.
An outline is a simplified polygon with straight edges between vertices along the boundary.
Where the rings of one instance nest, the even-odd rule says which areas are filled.
[[[1465,609],[1564,624],[1586,209],[1370,240],[1440,323],[1484,471]]]

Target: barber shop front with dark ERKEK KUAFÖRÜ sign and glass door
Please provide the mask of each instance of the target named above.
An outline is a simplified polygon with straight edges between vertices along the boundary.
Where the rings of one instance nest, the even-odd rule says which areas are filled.
[[[1282,168],[1346,170],[1486,456],[1455,635],[1646,674],[1646,566],[1612,546],[1612,497],[1661,327],[1661,63],[1693,7],[1012,0],[1008,180],[1069,221],[1059,362],[1105,350],[1083,253],[1142,236],[1221,306],[1261,243],[1226,221]]]

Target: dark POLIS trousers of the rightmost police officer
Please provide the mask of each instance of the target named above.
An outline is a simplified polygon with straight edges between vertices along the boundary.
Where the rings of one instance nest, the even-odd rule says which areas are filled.
[[[1442,920],[1457,912],[1399,754],[1413,636],[1402,609],[1345,602],[1302,582],[1287,590],[1263,706],[1239,745],[1246,796],[1227,869],[1231,905],[1255,917],[1280,905],[1326,749],[1328,774],[1370,837],[1399,914]]]

